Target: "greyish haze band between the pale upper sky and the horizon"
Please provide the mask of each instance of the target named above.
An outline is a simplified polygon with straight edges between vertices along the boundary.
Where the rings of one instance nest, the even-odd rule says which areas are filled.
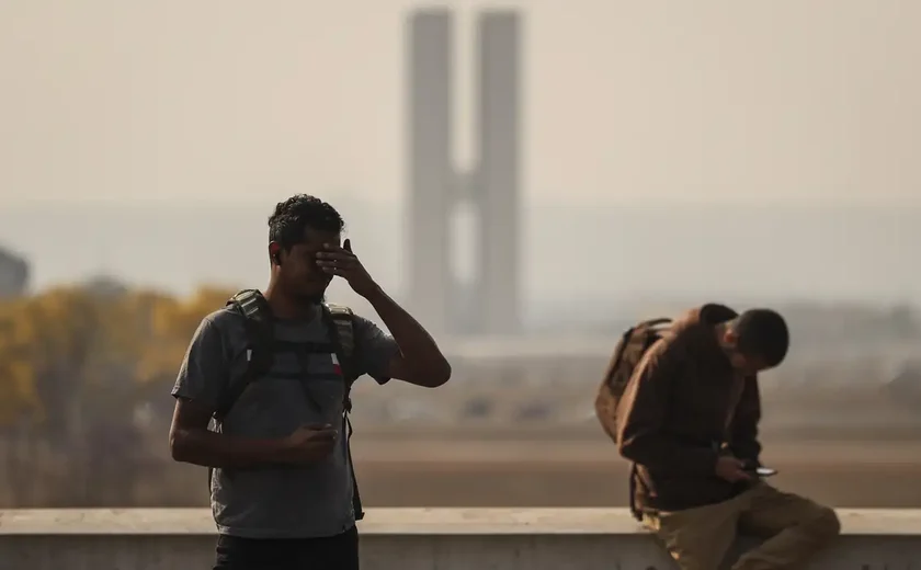
[[[400,295],[400,205],[330,200],[356,253]],[[204,284],[261,287],[273,202],[20,205],[0,210],[0,243],[32,260],[36,288],[99,275],[179,294]],[[590,316],[593,305],[638,299],[921,305],[911,263],[921,208],[530,203],[523,220],[523,300],[532,315],[571,306]],[[333,298],[343,295],[334,285]]]

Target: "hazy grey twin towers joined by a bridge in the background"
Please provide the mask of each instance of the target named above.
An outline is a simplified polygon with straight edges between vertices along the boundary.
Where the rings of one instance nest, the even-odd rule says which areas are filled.
[[[408,30],[409,305],[435,334],[520,330],[521,24],[515,12],[476,20],[474,167],[454,155],[454,21],[413,12]],[[473,280],[453,271],[452,220],[466,202],[476,217]]]

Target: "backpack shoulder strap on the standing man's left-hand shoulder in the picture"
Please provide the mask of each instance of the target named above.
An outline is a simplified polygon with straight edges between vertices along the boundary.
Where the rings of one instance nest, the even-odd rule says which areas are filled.
[[[262,293],[257,289],[243,289],[230,297],[227,307],[243,316],[248,365],[240,378],[229,387],[220,407],[215,411],[215,420],[218,422],[230,413],[247,387],[269,371],[272,365],[274,340],[272,312]]]

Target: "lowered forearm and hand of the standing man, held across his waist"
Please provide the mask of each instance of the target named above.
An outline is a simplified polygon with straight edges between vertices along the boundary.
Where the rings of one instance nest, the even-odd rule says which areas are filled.
[[[209,430],[180,430],[171,434],[170,449],[177,461],[245,469],[278,463],[284,442],[235,437]]]

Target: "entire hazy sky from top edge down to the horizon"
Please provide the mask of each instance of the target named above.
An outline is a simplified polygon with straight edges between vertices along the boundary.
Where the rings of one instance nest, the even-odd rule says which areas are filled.
[[[265,218],[308,192],[399,292],[414,5],[0,3],[0,246],[38,289],[261,286]],[[458,20],[463,166],[489,4],[440,5]],[[502,5],[525,19],[527,304],[921,304],[921,2]]]

